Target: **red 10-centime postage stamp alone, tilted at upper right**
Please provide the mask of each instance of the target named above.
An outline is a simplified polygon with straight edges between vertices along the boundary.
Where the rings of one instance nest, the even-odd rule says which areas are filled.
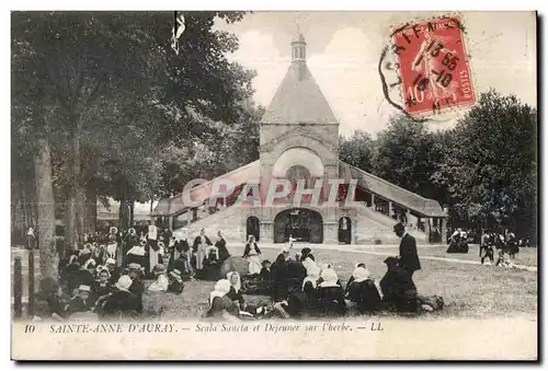
[[[409,114],[439,113],[476,103],[458,18],[402,26],[393,34],[392,48]]]

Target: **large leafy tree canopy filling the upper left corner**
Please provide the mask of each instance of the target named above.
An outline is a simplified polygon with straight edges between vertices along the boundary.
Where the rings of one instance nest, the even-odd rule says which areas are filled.
[[[36,194],[55,194],[64,206],[69,245],[93,219],[84,204],[93,211],[98,195],[132,202],[156,193],[156,153],[192,147],[209,130],[196,116],[237,123],[251,96],[250,72],[225,57],[236,37],[213,27],[216,18],[243,13],[184,16],[175,55],[169,12],[12,13],[12,132],[39,154],[35,178],[55,187]]]

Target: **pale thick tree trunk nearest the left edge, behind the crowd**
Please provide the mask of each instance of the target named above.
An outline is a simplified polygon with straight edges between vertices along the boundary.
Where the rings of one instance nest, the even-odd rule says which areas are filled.
[[[35,158],[36,198],[38,210],[38,248],[42,280],[57,281],[59,256],[55,245],[55,199],[52,185],[52,158],[49,143],[38,140],[38,153]]]

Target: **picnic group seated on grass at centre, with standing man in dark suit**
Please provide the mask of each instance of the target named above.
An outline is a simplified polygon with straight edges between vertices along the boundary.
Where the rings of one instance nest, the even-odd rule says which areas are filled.
[[[387,271],[380,281],[364,263],[357,263],[344,286],[334,267],[316,262],[309,247],[295,257],[290,256],[290,248],[285,247],[274,263],[262,260],[258,271],[261,251],[250,237],[243,254],[250,265],[249,274],[241,278],[238,273],[229,273],[227,278],[216,282],[207,316],[241,321],[249,317],[342,316],[351,309],[359,313],[441,309],[442,298],[419,295],[413,282],[414,271],[421,269],[414,237],[401,223],[395,225],[395,233],[401,237],[400,255],[385,259]],[[242,292],[269,295],[272,304],[248,303]]]

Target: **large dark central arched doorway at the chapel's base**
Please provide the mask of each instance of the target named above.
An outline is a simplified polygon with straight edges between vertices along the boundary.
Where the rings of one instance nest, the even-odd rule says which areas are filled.
[[[274,243],[289,241],[293,235],[297,241],[322,243],[323,219],[318,211],[310,209],[288,209],[274,218]]]

